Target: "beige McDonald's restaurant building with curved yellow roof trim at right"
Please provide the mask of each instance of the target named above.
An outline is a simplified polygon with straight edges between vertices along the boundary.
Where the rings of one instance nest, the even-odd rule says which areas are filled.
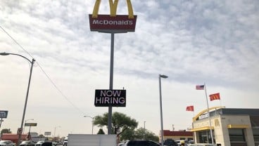
[[[208,109],[203,110],[193,118],[192,126],[196,143],[259,145],[259,109],[210,107],[209,112]]]

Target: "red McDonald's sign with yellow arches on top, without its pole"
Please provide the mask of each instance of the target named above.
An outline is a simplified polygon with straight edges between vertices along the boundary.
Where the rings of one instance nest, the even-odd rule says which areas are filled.
[[[119,0],[109,0],[110,15],[99,15],[101,0],[96,0],[94,11],[89,14],[90,30],[96,32],[134,32],[137,15],[133,14],[132,3],[127,0],[128,15],[116,15]]]

